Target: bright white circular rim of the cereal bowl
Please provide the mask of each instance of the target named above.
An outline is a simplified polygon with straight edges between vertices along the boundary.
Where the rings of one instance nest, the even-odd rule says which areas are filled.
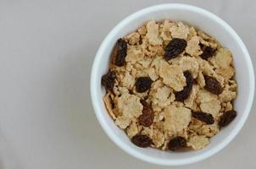
[[[219,144],[217,144],[213,150],[209,150],[209,151],[204,152],[201,155],[195,155],[195,156],[192,156],[192,157],[189,157],[186,159],[181,159],[181,160],[180,159],[179,160],[156,159],[152,156],[144,155],[141,152],[128,147],[128,145],[123,143],[122,140],[117,135],[114,134],[113,130],[111,128],[109,128],[108,123],[104,120],[103,114],[99,109],[99,106],[98,106],[99,103],[96,101],[96,96],[95,96],[95,95],[97,95],[97,92],[96,92],[97,89],[95,88],[95,83],[96,83],[96,77],[97,77],[98,63],[100,63],[101,56],[103,56],[103,49],[106,46],[108,46],[108,41],[109,41],[109,39],[111,39],[112,36],[114,36],[116,30],[120,30],[120,28],[123,25],[125,25],[125,23],[131,21],[132,19],[139,17],[142,14],[147,14],[147,13],[150,13],[153,11],[163,10],[164,8],[182,8],[182,9],[191,10],[194,12],[196,11],[197,13],[207,15],[209,18],[214,19],[220,25],[225,27],[225,29],[227,29],[231,33],[231,35],[236,39],[239,46],[241,46],[242,52],[245,57],[245,61],[248,65],[248,71],[249,71],[248,75],[251,78],[251,87],[252,87],[251,91],[252,92],[250,92],[250,94],[248,95],[248,103],[247,103],[247,106],[245,107],[243,116],[241,117],[239,123],[237,123],[236,128],[232,128],[231,134],[229,134],[227,137],[225,137],[225,139],[223,141],[221,141]],[[220,19],[217,15],[212,14],[208,10],[205,10],[203,8],[198,8],[193,5],[188,5],[188,4],[183,4],[183,3],[162,3],[159,5],[153,5],[153,6],[150,6],[147,8],[142,8],[142,9],[138,10],[136,13],[133,13],[133,14],[127,16],[125,19],[122,19],[120,21],[120,23],[118,23],[118,25],[116,25],[114,27],[114,29],[112,29],[109,32],[109,34],[104,38],[101,46],[98,48],[96,57],[94,58],[94,61],[92,64],[90,88],[91,88],[90,90],[91,90],[92,106],[94,108],[94,112],[96,114],[97,120],[100,123],[101,127],[103,128],[104,132],[109,136],[109,138],[115,144],[117,144],[120,147],[120,149],[124,150],[126,153],[128,153],[142,161],[147,161],[147,162],[150,162],[153,164],[164,165],[164,166],[180,166],[180,165],[191,164],[191,163],[198,162],[198,161],[203,161],[203,160],[209,158],[210,156],[216,154],[217,152],[219,152],[220,150],[225,148],[225,146],[227,144],[229,144],[231,142],[231,140],[236,137],[236,135],[239,133],[239,131],[242,129],[242,126],[246,122],[248,115],[250,113],[251,107],[253,106],[253,95],[254,95],[255,82],[254,82],[253,64],[252,64],[251,57],[248,53],[246,46],[243,44],[241,38],[239,37],[239,35],[237,35],[236,31],[233,30],[230,25],[225,23],[225,21],[223,19]]]

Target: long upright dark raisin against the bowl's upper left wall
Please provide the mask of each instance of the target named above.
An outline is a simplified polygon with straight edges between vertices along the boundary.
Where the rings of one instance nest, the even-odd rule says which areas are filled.
[[[114,64],[119,67],[124,66],[126,54],[127,42],[122,39],[119,39],[116,42],[112,53],[112,57],[114,57]]]

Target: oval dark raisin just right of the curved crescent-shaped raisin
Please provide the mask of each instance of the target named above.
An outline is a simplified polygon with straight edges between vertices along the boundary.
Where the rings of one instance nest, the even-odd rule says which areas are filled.
[[[214,79],[213,77],[208,75],[204,75],[203,77],[205,80],[204,89],[209,90],[209,92],[215,95],[220,95],[222,93],[223,89],[217,79]]]

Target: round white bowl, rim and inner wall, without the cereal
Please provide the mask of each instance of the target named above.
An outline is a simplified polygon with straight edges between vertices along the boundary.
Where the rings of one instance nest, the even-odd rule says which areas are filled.
[[[188,152],[169,152],[152,148],[142,149],[132,144],[125,132],[118,128],[103,103],[105,90],[101,86],[101,77],[106,74],[109,67],[109,56],[115,42],[122,36],[136,30],[140,25],[150,19],[171,19],[181,20],[187,24],[198,27],[209,35],[214,36],[220,44],[229,48],[234,57],[234,65],[237,68],[236,79],[238,83],[238,95],[235,101],[237,118],[220,133],[210,139],[210,144],[203,150]],[[254,74],[253,64],[248,54],[246,46],[237,33],[220,19],[208,11],[185,4],[161,4],[149,8],[144,8],[135,14],[131,14],[123,19],[104,39],[97,51],[97,55],[92,65],[91,74],[91,96],[92,105],[97,115],[97,120],[109,138],[122,150],[135,156],[142,161],[159,165],[177,166],[202,161],[218,151],[222,150],[241,130],[245,123],[254,95]]]

